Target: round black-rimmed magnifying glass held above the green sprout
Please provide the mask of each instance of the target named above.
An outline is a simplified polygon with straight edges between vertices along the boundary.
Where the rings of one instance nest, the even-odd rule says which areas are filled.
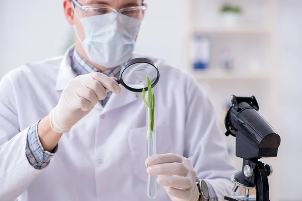
[[[116,81],[130,91],[142,92],[143,89],[148,90],[146,75],[149,77],[153,88],[160,80],[157,64],[147,58],[135,58],[123,65],[120,71],[120,79]]]

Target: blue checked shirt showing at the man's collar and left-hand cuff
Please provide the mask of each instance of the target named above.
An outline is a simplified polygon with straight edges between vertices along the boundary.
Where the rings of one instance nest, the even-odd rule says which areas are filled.
[[[85,58],[79,55],[75,49],[73,51],[70,51],[69,56],[71,57],[72,69],[78,75],[83,75],[92,72],[101,72],[98,68],[94,67]],[[122,66],[117,66],[115,68],[111,68],[107,71],[104,71],[103,73],[109,77],[116,77],[119,79],[119,73],[121,67]],[[99,103],[103,107],[105,107],[106,103],[108,102],[111,93],[112,92],[108,92],[107,97],[104,100],[100,100]],[[56,153],[58,149],[58,145],[56,145],[51,152],[44,151],[38,136],[38,131],[37,131],[38,123],[32,125],[29,128],[25,151],[26,151],[27,159],[30,162],[30,164],[35,169],[43,169],[50,163],[50,159]]]

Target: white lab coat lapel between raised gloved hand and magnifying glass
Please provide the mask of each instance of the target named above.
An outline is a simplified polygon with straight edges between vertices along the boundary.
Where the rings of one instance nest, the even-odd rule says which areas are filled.
[[[135,93],[132,91],[127,90],[123,86],[121,86],[121,92],[118,94],[112,93],[104,110],[103,114],[107,113],[109,111],[121,108],[123,106],[126,106],[128,104],[131,104],[132,102],[135,102],[139,99],[139,94],[141,93]]]

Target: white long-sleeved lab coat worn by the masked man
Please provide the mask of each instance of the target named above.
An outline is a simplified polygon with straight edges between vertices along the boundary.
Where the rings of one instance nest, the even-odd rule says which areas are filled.
[[[76,74],[65,56],[30,63],[0,83],[0,200],[149,200],[146,195],[146,108],[141,93],[121,86],[63,134],[49,166],[34,169],[25,154],[28,127],[47,116]],[[141,55],[135,54],[134,57]],[[150,57],[147,57],[150,58]],[[226,144],[212,105],[191,76],[154,60],[161,79],[156,97],[157,153],[189,158],[219,200],[230,194]],[[158,186],[156,200],[170,200]]]

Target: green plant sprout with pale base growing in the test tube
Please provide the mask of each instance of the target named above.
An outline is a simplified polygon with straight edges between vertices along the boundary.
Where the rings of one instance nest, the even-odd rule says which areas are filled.
[[[145,106],[148,109],[148,114],[149,114],[149,122],[148,122],[148,132],[147,135],[148,139],[152,139],[152,132],[154,130],[154,111],[155,111],[155,97],[154,94],[152,94],[152,87],[150,83],[150,79],[148,76],[147,77],[147,85],[148,85],[148,103],[146,102],[146,97],[145,97],[145,89],[142,89],[142,99],[145,104]]]

